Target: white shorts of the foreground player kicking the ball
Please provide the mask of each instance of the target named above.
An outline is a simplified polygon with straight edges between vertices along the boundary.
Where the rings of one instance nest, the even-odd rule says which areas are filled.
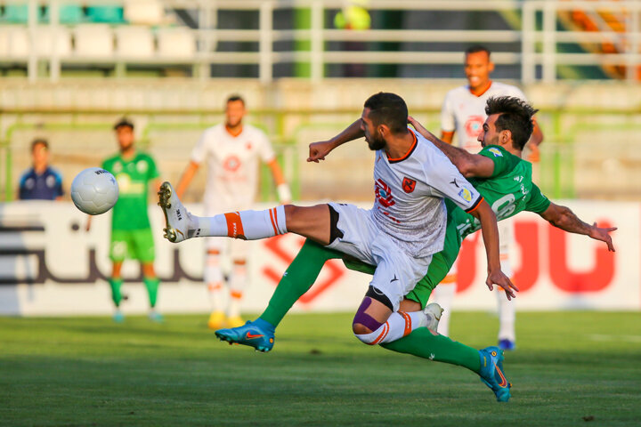
[[[369,284],[389,298],[394,311],[398,310],[403,297],[426,275],[432,255],[415,258],[403,252],[393,238],[377,228],[368,210],[354,205],[329,205],[338,214],[337,228],[344,236],[327,247],[376,265]]]

